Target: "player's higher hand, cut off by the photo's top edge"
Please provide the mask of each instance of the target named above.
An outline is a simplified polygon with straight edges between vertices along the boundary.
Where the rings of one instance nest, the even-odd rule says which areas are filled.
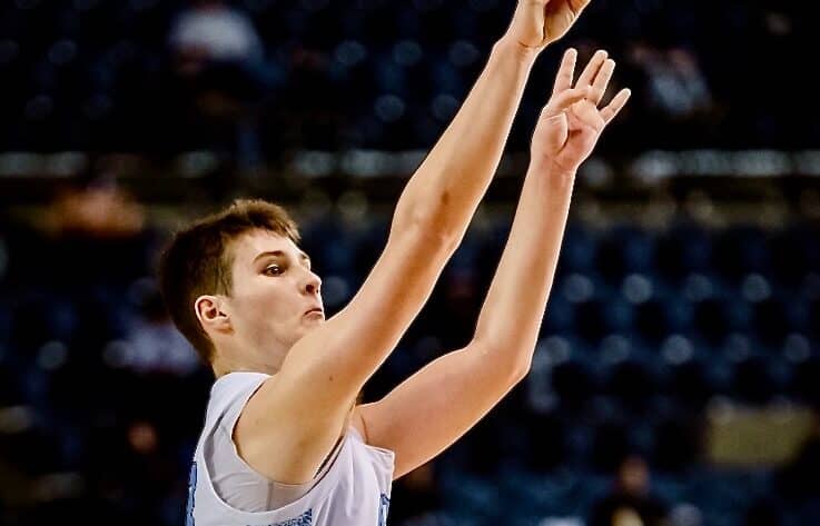
[[[590,0],[518,0],[505,37],[540,51],[566,34],[589,3]]]

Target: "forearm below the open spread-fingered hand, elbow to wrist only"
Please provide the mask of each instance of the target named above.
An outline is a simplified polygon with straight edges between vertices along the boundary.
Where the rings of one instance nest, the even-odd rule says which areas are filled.
[[[474,340],[498,365],[528,370],[557,266],[574,175],[531,167]],[[487,350],[488,349],[488,350]]]

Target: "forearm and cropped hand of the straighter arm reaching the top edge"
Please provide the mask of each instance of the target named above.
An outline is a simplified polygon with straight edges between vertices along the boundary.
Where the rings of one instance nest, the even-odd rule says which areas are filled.
[[[422,222],[461,240],[498,166],[533,62],[589,2],[518,0],[510,28],[464,105],[407,183],[393,232]]]

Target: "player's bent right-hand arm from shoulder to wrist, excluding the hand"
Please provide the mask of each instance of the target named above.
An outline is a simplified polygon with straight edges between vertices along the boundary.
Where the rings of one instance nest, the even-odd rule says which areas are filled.
[[[395,451],[394,478],[446,449],[528,370],[572,187],[571,177],[543,176],[526,176],[473,340],[433,360],[382,400],[356,408],[367,443]]]

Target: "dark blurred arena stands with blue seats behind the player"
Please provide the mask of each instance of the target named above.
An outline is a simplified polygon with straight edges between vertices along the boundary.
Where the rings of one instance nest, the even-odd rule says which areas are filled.
[[[154,268],[235,197],[299,220],[328,314],[512,0],[0,7],[0,524],[175,525],[210,373]],[[593,0],[366,399],[464,345],[557,60],[633,99],[581,172],[533,370],[393,525],[820,524],[820,110],[807,2]],[[526,279],[522,276],[522,279]]]

